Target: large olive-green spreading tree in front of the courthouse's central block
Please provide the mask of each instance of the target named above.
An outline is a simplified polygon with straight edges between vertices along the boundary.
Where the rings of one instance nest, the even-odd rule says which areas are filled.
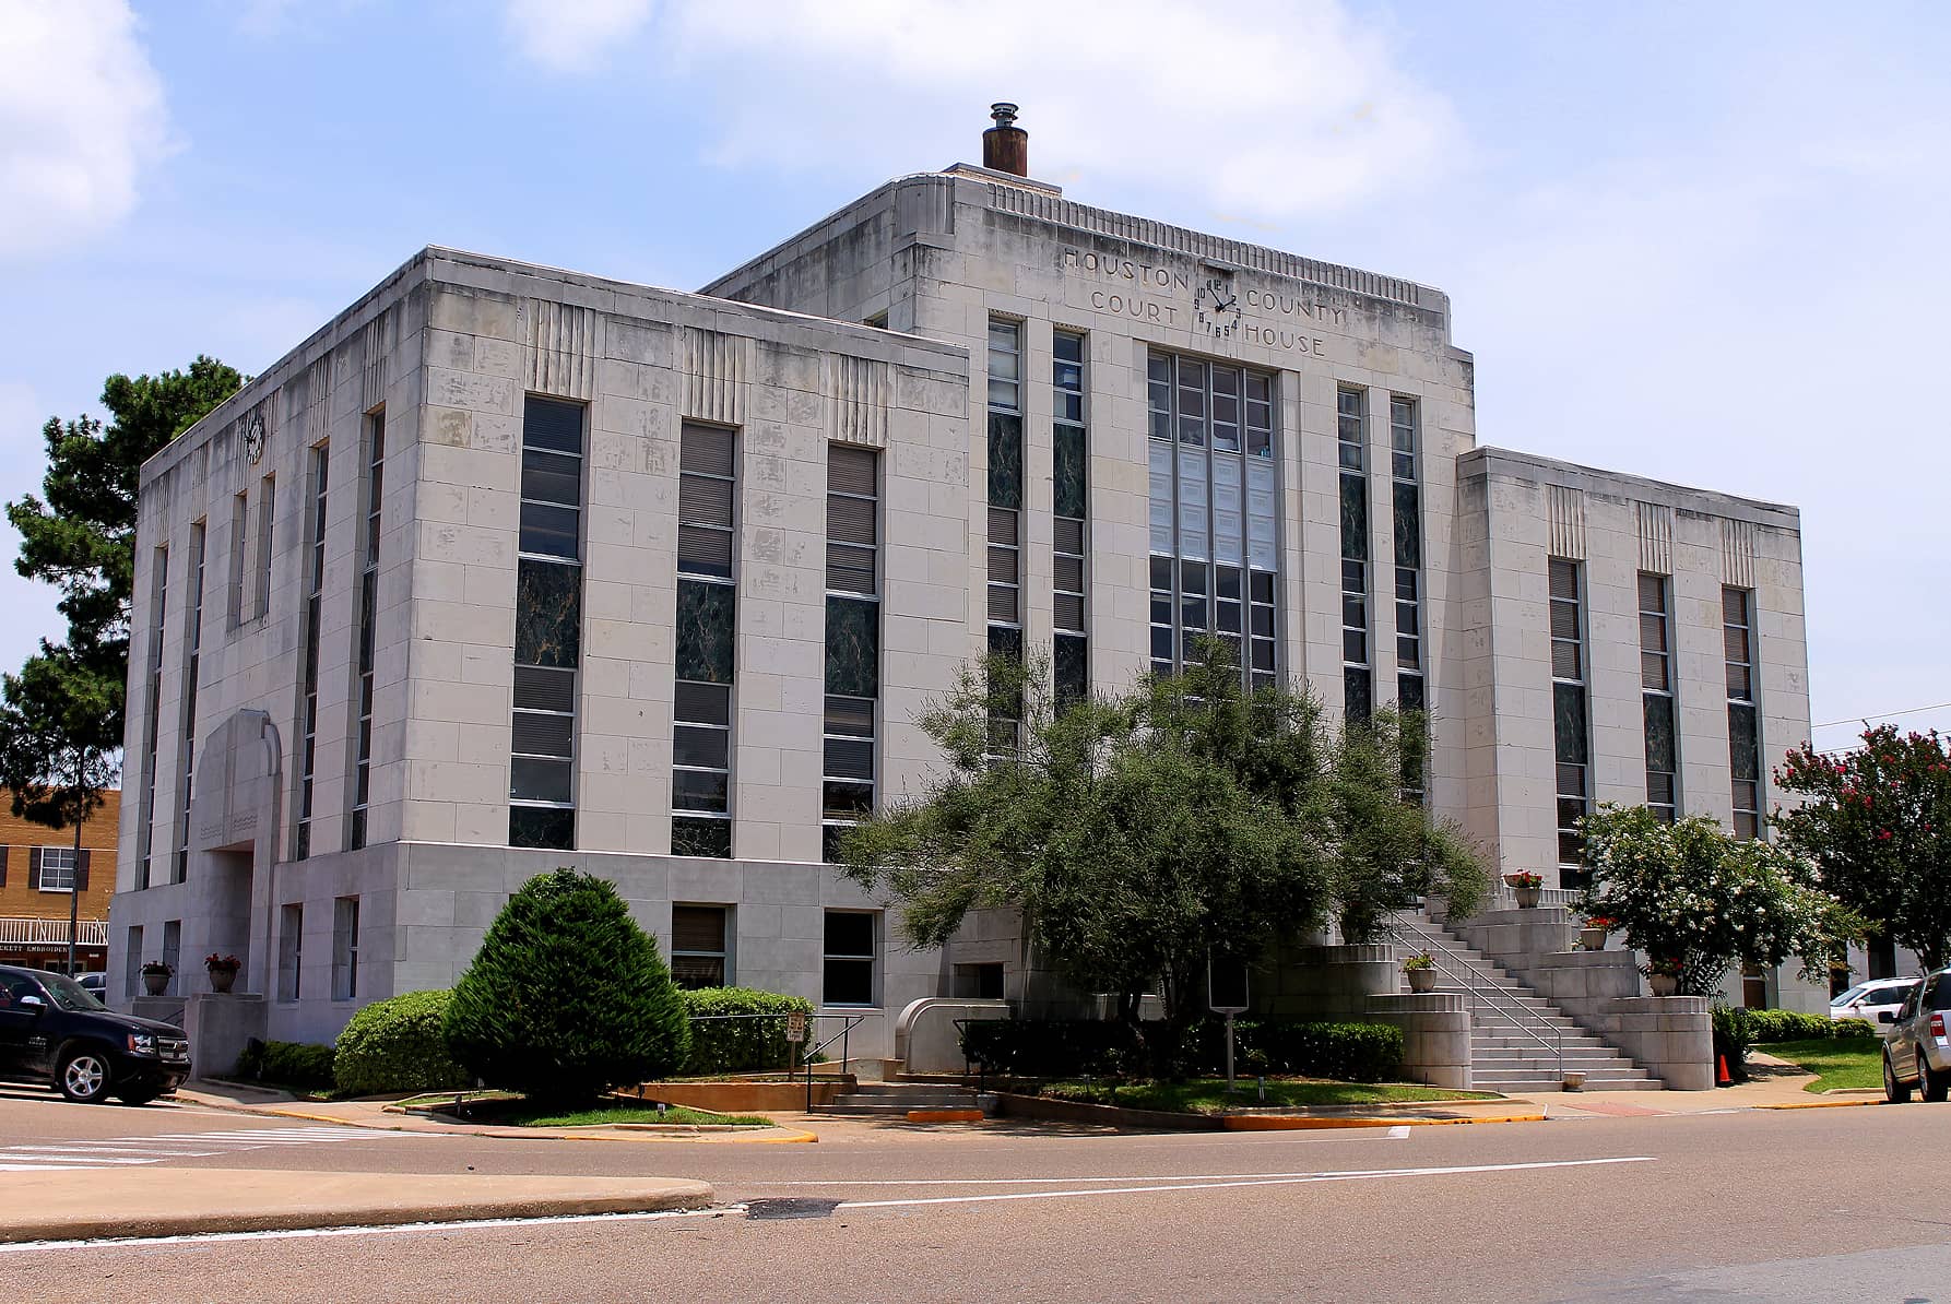
[[[1145,1035],[1171,1070],[1210,957],[1262,963],[1329,914],[1374,934],[1430,891],[1481,901],[1479,860],[1401,799],[1418,745],[1393,715],[1342,731],[1307,696],[1249,696],[1219,641],[1182,674],[1061,710],[1042,671],[964,667],[919,719],[942,764],[843,838],[843,871],[901,902],[915,945],[1016,908],[1038,951],[1075,988],[1118,994],[1132,1025],[1139,994],[1161,994]],[[1020,727],[999,745],[997,721]]]

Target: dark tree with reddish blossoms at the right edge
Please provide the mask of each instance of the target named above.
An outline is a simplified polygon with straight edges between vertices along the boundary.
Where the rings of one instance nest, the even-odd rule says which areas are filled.
[[[1807,797],[1775,811],[1781,844],[1812,860],[1873,934],[1916,951],[1926,971],[1951,965],[1947,741],[1877,725],[1834,760],[1805,743],[1775,782]]]

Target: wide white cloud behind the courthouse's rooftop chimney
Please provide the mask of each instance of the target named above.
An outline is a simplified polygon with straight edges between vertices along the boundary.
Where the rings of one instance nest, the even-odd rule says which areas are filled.
[[[519,45],[587,66],[650,23],[634,0],[507,0]],[[652,51],[698,88],[722,166],[911,172],[976,150],[991,99],[1020,99],[1032,172],[1153,187],[1243,218],[1428,187],[1455,115],[1334,0],[1171,0],[999,12],[958,0],[669,0]],[[944,134],[944,123],[952,133]],[[1048,142],[1048,144],[1046,144]]]

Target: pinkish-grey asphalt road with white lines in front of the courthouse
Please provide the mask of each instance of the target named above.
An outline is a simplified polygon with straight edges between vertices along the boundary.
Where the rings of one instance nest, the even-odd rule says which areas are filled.
[[[304,1140],[291,1119],[0,1093],[0,1154],[144,1136],[185,1150],[168,1168],[656,1173],[728,1208],[0,1251],[0,1298],[1951,1300],[1951,1105],[1243,1134],[845,1123],[778,1146]]]

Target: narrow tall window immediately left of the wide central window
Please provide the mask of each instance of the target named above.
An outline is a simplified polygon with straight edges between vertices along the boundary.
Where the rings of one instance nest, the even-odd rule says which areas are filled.
[[[1085,429],[1085,337],[1052,335],[1050,363],[1052,626],[1057,706],[1091,696],[1085,626],[1085,557],[1091,503],[1091,441]]]

